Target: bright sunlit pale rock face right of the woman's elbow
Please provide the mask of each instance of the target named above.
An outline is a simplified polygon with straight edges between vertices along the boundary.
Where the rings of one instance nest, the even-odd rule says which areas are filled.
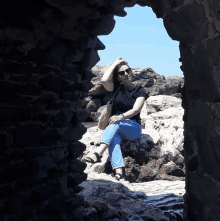
[[[145,129],[154,141],[159,140],[162,152],[178,150],[183,155],[183,114],[181,100],[175,97],[159,95],[146,101],[147,115],[143,118]]]

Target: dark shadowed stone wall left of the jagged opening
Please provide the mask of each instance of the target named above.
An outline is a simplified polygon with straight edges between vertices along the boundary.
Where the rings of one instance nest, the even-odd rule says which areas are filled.
[[[83,220],[83,198],[75,196],[81,191],[78,184],[87,178],[86,165],[77,160],[85,150],[78,141],[86,132],[81,122],[87,113],[81,105],[90,89],[90,69],[99,61],[97,50],[103,48],[96,32],[104,30],[98,20],[91,26],[82,19],[89,14],[100,17],[89,5],[53,2],[4,3],[0,32],[4,221]]]

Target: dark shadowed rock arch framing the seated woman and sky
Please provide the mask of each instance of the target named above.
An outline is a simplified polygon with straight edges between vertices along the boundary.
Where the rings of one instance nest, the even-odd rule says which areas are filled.
[[[219,219],[219,1],[8,0],[0,18],[1,220],[82,220],[82,97],[105,48],[97,36],[135,4],[151,7],[180,42],[185,217]]]

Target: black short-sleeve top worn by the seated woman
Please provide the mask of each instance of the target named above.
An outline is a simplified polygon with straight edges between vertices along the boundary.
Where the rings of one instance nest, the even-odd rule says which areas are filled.
[[[119,83],[114,83],[113,93],[120,86]],[[121,89],[117,93],[112,107],[112,115],[119,115],[121,113],[125,113],[128,110],[133,108],[133,105],[138,97],[145,97],[145,100],[148,98],[143,87],[137,85],[130,90],[126,90],[122,85]],[[131,120],[135,120],[138,123],[141,122],[140,113],[130,118]]]

